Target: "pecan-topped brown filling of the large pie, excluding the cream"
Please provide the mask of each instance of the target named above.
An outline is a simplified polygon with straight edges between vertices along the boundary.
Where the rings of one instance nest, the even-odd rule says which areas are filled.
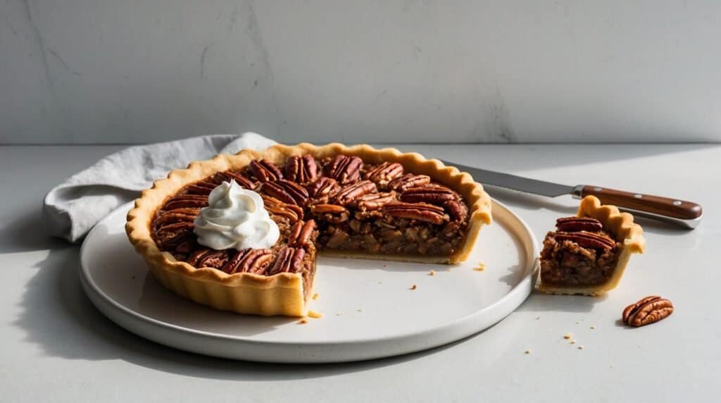
[[[280,229],[273,247],[237,251],[198,244],[193,221],[208,205],[210,192],[231,180],[262,196]],[[229,274],[301,273],[307,299],[317,250],[450,256],[463,246],[468,222],[468,208],[457,192],[427,175],[404,172],[401,164],[367,164],[345,155],[317,161],[304,155],[280,165],[251,161],[239,171],[186,185],[156,211],[151,234],[159,249],[194,267]]]

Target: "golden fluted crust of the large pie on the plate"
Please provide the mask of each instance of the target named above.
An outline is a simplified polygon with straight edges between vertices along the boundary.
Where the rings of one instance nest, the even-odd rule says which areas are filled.
[[[491,199],[482,185],[474,182],[471,175],[446,167],[437,159],[425,159],[417,153],[402,153],[397,149],[373,149],[368,145],[345,146],[330,143],[314,146],[300,143],[296,146],[276,145],[264,151],[246,149],[235,155],[221,154],[207,161],[191,162],[187,169],[174,169],[167,178],[156,180],[150,189],[143,190],[135,207],[128,212],[125,231],[128,239],[149,265],[155,278],[175,293],[198,304],[215,309],[236,311],[241,314],[264,316],[306,314],[306,295],[300,273],[278,273],[272,276],[253,273],[227,274],[213,267],[193,267],[175,259],[169,252],[162,252],[151,237],[151,222],[156,210],[175,192],[190,182],[203,180],[216,172],[242,169],[252,160],[267,159],[279,162],[289,156],[311,154],[316,159],[344,154],[358,156],[363,161],[379,164],[392,161],[401,164],[415,174],[426,174],[433,180],[459,192],[469,206],[469,224],[463,246],[449,256],[393,256],[382,257],[363,253],[337,253],[335,256],[384,259],[406,262],[455,264],[463,262],[472,252],[477,236],[484,224],[491,223]],[[312,288],[312,283],[310,284]]]

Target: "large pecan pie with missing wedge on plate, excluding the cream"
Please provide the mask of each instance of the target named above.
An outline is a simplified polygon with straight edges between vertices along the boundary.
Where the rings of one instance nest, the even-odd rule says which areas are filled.
[[[260,193],[280,231],[272,247],[216,250],[198,242],[195,218],[208,195],[231,181]],[[317,252],[457,263],[490,221],[483,187],[440,161],[302,143],[174,170],[143,191],[125,228],[151,273],[181,296],[244,314],[302,316]]]

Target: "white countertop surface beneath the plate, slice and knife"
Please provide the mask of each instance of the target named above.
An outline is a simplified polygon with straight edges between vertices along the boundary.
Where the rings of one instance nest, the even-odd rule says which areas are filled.
[[[2,399],[82,401],[701,402],[721,393],[719,145],[402,146],[427,156],[575,185],[589,183],[694,200],[694,231],[641,221],[634,256],[605,298],[531,295],[473,337],[384,360],[319,366],[208,358],[136,337],[81,291],[79,247],[43,233],[52,185],[120,146],[0,147],[0,391]],[[570,197],[490,188],[539,239]],[[617,322],[637,298],[660,294],[676,312],[652,326]],[[593,329],[592,327],[595,327]],[[570,345],[572,332],[585,348]],[[524,354],[531,350],[531,354]]]

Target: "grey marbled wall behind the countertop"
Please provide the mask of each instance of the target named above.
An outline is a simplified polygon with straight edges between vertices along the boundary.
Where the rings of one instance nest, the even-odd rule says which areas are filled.
[[[721,141],[721,1],[0,0],[0,143]]]

